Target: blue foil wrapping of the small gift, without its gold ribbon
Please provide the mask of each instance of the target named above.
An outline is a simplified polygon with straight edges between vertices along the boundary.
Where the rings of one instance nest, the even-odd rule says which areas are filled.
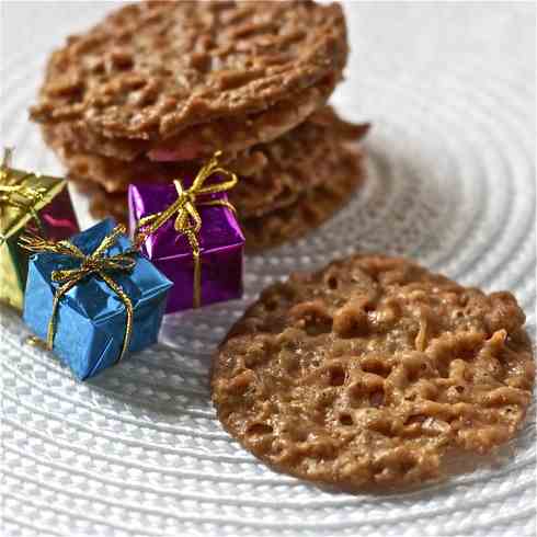
[[[84,254],[95,248],[114,229],[112,219],[75,236],[70,242]],[[121,236],[106,255],[126,252],[132,242]],[[127,354],[157,342],[172,283],[147,259],[134,254],[129,272],[114,271],[112,278],[130,298],[134,309],[133,333]],[[80,267],[80,260],[58,253],[35,253],[30,259],[24,322],[42,340],[46,340],[53,300],[61,285],[53,281],[53,272]],[[122,353],[127,312],[123,300],[96,274],[81,279],[60,299],[56,313],[54,353],[81,380],[115,364]]]

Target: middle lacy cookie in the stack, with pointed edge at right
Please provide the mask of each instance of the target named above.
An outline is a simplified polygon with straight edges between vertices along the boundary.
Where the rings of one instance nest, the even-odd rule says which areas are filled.
[[[308,121],[270,144],[242,151],[224,164],[241,176],[231,193],[243,218],[260,217],[295,203],[320,183],[332,182],[349,151],[346,142],[358,141],[368,125],[354,125],[323,108]],[[53,142],[54,145],[54,142]],[[139,158],[129,163],[96,155],[77,153],[69,145],[56,147],[70,175],[79,182],[98,183],[108,193],[126,192],[129,183],[170,182],[195,173],[196,162],[151,162]]]

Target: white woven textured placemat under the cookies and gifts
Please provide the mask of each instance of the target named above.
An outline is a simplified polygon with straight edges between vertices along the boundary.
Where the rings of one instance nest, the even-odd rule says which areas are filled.
[[[20,167],[61,172],[26,108],[50,48],[110,8],[2,3],[0,141]],[[334,102],[374,123],[369,179],[317,233],[249,258],[242,301],[168,318],[157,349],[87,384],[0,310],[3,536],[535,536],[533,411],[504,466],[384,496],[274,473],[215,419],[210,354],[245,305],[356,249],[511,289],[535,332],[535,7],[346,9],[353,56]]]

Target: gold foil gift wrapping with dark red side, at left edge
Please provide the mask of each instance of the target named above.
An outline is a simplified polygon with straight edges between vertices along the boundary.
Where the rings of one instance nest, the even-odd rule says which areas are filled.
[[[79,227],[65,180],[7,169],[0,181],[42,192],[32,205],[20,196],[13,196],[18,203],[0,205],[0,301],[22,310],[28,254],[19,247],[20,236],[33,231],[48,239],[62,240],[77,233]]]

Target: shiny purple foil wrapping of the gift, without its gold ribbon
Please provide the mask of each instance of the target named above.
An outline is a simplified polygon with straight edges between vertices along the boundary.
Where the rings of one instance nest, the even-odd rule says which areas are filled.
[[[190,183],[185,184],[185,187]],[[130,184],[128,187],[129,225],[134,233],[141,218],[160,213],[178,199],[174,184]],[[198,232],[201,249],[201,306],[242,296],[242,251],[244,236],[232,210],[222,206],[204,206],[204,201],[224,199],[226,194],[203,195],[196,208],[202,218]],[[168,297],[167,313],[190,309],[194,305],[194,268],[192,247],[174,228],[175,216],[150,235],[141,244],[146,255],[173,287]]]

